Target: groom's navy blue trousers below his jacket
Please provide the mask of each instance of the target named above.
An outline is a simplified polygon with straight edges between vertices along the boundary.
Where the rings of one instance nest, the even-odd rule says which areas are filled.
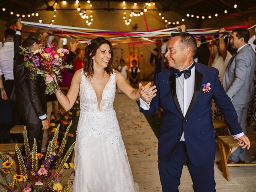
[[[170,162],[159,161],[158,169],[163,192],[178,192],[183,164],[186,162],[195,192],[216,192],[214,181],[214,161],[202,166],[194,166],[188,157],[185,142],[179,142]]]

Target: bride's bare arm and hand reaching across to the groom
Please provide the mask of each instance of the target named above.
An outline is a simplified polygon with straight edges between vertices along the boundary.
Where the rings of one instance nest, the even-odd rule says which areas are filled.
[[[116,73],[116,85],[122,92],[124,92],[130,99],[132,100],[138,100],[140,97],[140,91],[144,94],[147,94],[150,99],[152,99],[156,94],[156,86],[150,86],[151,83],[149,82],[145,86],[142,86],[140,84],[139,89],[134,89],[130,84],[127,83],[127,81],[124,79],[124,76],[118,72],[115,71]],[[152,97],[152,98],[151,98]]]

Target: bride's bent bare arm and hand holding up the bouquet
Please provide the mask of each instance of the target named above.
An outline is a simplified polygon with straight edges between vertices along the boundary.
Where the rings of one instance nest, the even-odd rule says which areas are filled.
[[[77,70],[72,78],[71,81],[71,85],[70,85],[70,89],[68,90],[67,95],[65,96],[61,90],[57,90],[56,97],[58,99],[58,101],[60,102],[61,106],[64,108],[64,110],[70,110],[72,108],[72,106],[74,105],[76,98],[78,96],[79,93],[79,89],[80,89],[80,82],[82,79],[81,76],[81,70]],[[56,81],[56,76],[50,76],[50,75],[46,75],[46,84],[52,82],[53,80]]]

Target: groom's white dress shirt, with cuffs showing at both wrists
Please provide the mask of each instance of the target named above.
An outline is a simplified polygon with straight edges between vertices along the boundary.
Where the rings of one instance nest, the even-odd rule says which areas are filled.
[[[194,61],[192,62],[192,64],[193,63]],[[192,64],[190,66],[192,66]],[[190,68],[190,66],[188,66],[188,68]],[[186,68],[185,70],[187,70],[188,68]],[[190,102],[194,94],[195,74],[196,74],[196,68],[194,66],[191,69],[191,75],[189,78],[185,79],[183,73],[181,74],[180,77],[176,78],[176,94],[177,94],[178,102],[180,104],[180,109],[184,117],[186,116],[188,107],[190,106]],[[144,110],[149,110],[150,103],[147,104],[140,98],[140,107]],[[244,133],[242,132],[240,134],[234,135],[234,138],[237,139],[243,135]],[[180,141],[185,141],[184,132],[182,133]]]

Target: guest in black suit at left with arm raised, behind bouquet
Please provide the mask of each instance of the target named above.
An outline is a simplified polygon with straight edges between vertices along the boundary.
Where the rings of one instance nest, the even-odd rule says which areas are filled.
[[[18,19],[17,30],[14,36],[14,84],[16,91],[16,101],[18,110],[24,125],[28,132],[28,142],[32,149],[34,138],[36,138],[38,152],[41,150],[43,130],[50,127],[50,123],[46,116],[46,97],[44,91],[46,88],[44,78],[37,76],[36,79],[31,79],[29,68],[24,66],[23,56],[19,54],[21,51],[21,29],[22,24]],[[39,48],[35,38],[27,38],[22,42],[22,47],[36,50]]]

